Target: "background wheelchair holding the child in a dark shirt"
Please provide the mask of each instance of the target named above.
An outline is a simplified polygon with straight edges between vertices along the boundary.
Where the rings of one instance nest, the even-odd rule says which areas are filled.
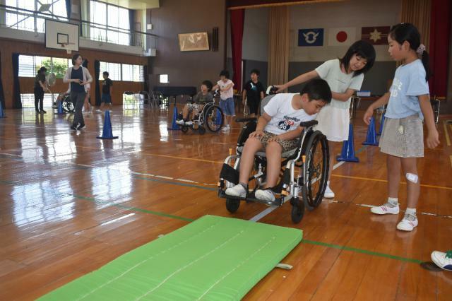
[[[193,125],[179,125],[181,126],[182,133],[185,134],[189,129],[192,129],[203,135],[206,134],[206,128],[213,133],[220,131],[225,119],[221,108],[218,105],[215,105],[215,96],[216,94],[214,94],[212,102],[207,102],[206,105],[204,105],[203,110],[198,112],[194,119],[191,120]],[[196,105],[193,102],[189,103],[189,105],[191,106],[189,114],[191,114],[191,110],[198,110],[199,105]]]

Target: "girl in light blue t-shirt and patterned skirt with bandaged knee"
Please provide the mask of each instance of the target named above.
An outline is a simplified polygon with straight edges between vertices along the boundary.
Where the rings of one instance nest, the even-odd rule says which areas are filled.
[[[420,194],[417,158],[424,156],[422,118],[427,126],[427,147],[439,144],[439,135],[430,105],[429,55],[420,43],[420,33],[410,23],[394,25],[388,34],[388,52],[402,65],[396,70],[389,93],[376,100],[364,114],[369,124],[374,110],[388,104],[379,147],[386,153],[388,201],[371,208],[376,214],[398,214],[400,167],[407,179],[407,210],[397,229],[411,231],[417,226],[416,206]]]

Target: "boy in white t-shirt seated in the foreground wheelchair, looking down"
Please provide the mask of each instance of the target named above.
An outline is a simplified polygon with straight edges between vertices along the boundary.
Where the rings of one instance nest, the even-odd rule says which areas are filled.
[[[239,184],[226,189],[230,196],[246,197],[248,179],[254,164],[254,154],[265,149],[267,158],[267,182],[263,189],[256,190],[256,199],[274,201],[272,190],[278,182],[281,168],[281,153],[296,148],[303,128],[301,122],[316,118],[321,108],[331,102],[331,90],[323,79],[309,81],[301,93],[275,95],[263,107],[256,131],[246,140],[240,161]]]

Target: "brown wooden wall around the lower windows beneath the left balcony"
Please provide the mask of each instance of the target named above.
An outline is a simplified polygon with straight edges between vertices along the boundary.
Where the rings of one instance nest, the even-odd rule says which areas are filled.
[[[13,69],[12,69],[12,54],[20,53],[25,55],[37,55],[44,57],[66,57],[71,59],[73,54],[67,54],[65,51],[57,49],[47,49],[44,45],[35,44],[31,42],[20,42],[17,40],[0,39],[0,53],[1,53],[1,79],[3,81],[5,105],[6,108],[13,107]],[[126,54],[119,54],[113,52],[100,52],[93,49],[80,49],[80,54],[83,58],[88,59],[88,70],[94,78],[94,61],[109,61],[113,63],[122,64],[148,64],[147,57],[136,57]],[[101,70],[102,73],[102,70]],[[20,92],[33,93],[34,78],[20,78]],[[102,83],[102,82],[100,82]],[[122,104],[122,93],[126,90],[138,92],[143,90],[144,83],[136,83],[130,81],[115,81],[113,86],[112,102],[114,105]],[[60,93],[68,89],[68,84],[63,83],[62,79],[58,79],[56,85],[52,87],[52,92]],[[92,84],[91,102],[95,100],[95,86]]]

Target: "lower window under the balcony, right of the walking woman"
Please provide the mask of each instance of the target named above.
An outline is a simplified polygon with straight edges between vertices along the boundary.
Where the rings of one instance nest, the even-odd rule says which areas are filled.
[[[101,81],[104,79],[102,76],[104,71],[109,73],[109,78],[112,81],[144,81],[144,66],[142,65],[117,64],[101,61],[99,72],[99,79]]]

